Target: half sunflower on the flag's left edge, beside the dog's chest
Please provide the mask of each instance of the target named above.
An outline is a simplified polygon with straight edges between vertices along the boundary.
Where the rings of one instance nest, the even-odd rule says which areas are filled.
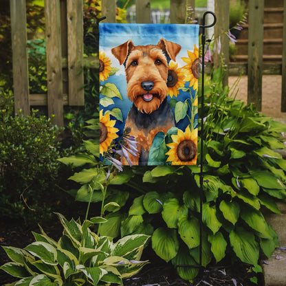
[[[116,132],[117,128],[113,127],[116,120],[110,120],[109,113],[102,115],[102,110],[100,110],[100,154],[103,155],[107,151],[113,139],[117,138]]]

